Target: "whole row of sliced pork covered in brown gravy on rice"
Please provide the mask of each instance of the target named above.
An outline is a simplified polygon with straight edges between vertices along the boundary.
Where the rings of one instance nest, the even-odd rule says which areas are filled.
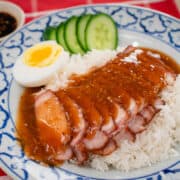
[[[17,132],[26,154],[50,165],[112,154],[147,129],[160,110],[157,101],[164,103],[160,92],[179,72],[163,53],[129,46],[55,92],[25,90]]]

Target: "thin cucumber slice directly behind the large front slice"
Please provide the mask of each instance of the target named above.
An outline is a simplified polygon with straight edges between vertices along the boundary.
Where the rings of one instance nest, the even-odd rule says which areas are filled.
[[[86,25],[92,16],[93,16],[92,14],[82,15],[78,18],[77,21],[78,42],[85,51],[88,49],[85,41],[85,30],[86,30]]]

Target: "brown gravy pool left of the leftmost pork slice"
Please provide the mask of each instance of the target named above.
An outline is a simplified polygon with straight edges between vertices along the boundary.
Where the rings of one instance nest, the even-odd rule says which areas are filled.
[[[57,163],[56,160],[50,158],[53,150],[46,151],[47,147],[40,142],[36,128],[33,94],[39,90],[40,88],[26,88],[21,96],[16,124],[17,136],[27,156],[45,164],[55,165]],[[57,164],[60,163],[58,161]]]

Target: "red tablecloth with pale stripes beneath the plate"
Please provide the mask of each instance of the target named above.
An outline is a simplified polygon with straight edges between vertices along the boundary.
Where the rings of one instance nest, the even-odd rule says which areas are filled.
[[[31,21],[49,11],[63,9],[83,4],[94,3],[127,3],[159,10],[174,17],[180,18],[179,0],[9,0],[18,4],[26,14],[26,22]],[[180,3],[179,3],[180,4]],[[0,169],[0,180],[6,180],[9,177]]]

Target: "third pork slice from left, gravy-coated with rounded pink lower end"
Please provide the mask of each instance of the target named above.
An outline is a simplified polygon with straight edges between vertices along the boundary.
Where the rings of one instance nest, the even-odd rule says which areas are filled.
[[[83,139],[85,147],[88,150],[104,147],[108,141],[108,137],[105,133],[100,131],[102,126],[102,116],[95,108],[94,102],[81,91],[81,87],[69,88],[67,92],[82,109],[84,118],[88,124]]]

